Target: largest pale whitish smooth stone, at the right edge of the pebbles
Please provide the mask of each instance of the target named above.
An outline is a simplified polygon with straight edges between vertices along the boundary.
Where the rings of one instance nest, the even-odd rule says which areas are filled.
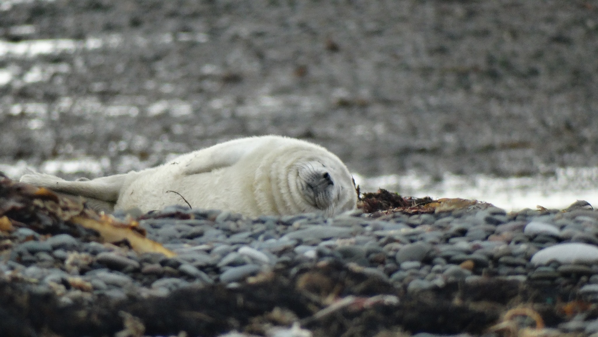
[[[598,247],[581,243],[557,244],[533,254],[531,260],[535,265],[547,265],[551,261],[561,264],[596,263],[598,262]]]

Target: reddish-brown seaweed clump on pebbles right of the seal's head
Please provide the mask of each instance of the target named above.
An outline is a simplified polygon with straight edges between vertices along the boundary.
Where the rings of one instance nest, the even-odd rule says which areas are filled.
[[[492,207],[492,204],[477,200],[460,198],[441,198],[433,200],[429,196],[414,198],[402,197],[398,193],[379,189],[375,193],[363,193],[357,205],[366,213],[373,213],[374,217],[396,212],[406,214],[424,214],[449,212],[456,210],[483,210]]]

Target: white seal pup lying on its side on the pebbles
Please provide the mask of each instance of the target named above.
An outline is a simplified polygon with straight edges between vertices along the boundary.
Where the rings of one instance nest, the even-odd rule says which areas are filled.
[[[349,170],[324,147],[283,136],[255,136],[184,154],[143,171],[87,181],[26,174],[22,182],[114,204],[115,209],[193,208],[248,216],[353,210]],[[175,193],[170,193],[175,192]]]

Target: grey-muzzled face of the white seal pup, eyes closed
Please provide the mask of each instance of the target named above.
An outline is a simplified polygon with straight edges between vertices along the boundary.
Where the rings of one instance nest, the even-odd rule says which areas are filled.
[[[355,184],[344,165],[312,160],[296,167],[297,184],[309,205],[327,216],[355,208]]]

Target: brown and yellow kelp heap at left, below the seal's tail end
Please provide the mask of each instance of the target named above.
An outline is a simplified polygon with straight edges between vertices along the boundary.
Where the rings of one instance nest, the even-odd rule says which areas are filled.
[[[137,221],[124,223],[98,214],[86,207],[84,198],[57,195],[43,187],[18,183],[0,172],[0,230],[12,232],[14,227],[28,227],[40,234],[69,233],[88,241],[127,241],[138,254],[176,255],[145,238],[145,230]]]

